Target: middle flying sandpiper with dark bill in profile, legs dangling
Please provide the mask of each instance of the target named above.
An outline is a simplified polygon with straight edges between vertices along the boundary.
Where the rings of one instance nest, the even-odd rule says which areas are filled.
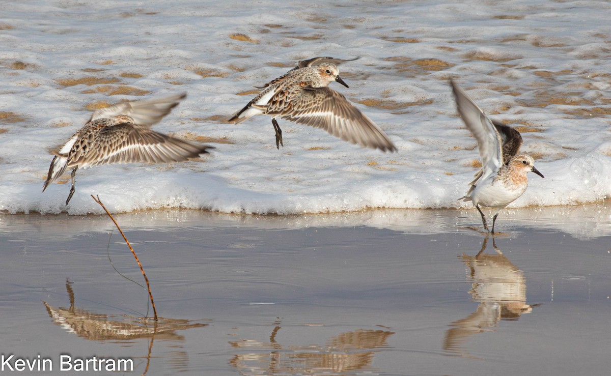
[[[358,58],[357,58],[358,59]],[[356,60],[356,59],[352,59]],[[269,115],[276,131],[276,148],[282,142],[282,130],[276,118],[322,128],[335,137],[381,151],[397,151],[384,131],[345,96],[329,89],[331,82],[348,87],[339,76],[336,64],[349,60],[314,57],[302,60],[283,76],[258,89],[264,89],[229,121],[241,123],[254,115]]]

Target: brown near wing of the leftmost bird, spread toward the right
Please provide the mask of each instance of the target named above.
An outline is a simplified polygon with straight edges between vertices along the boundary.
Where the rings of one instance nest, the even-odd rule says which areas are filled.
[[[88,153],[72,163],[84,168],[112,163],[184,162],[212,148],[176,139],[146,126],[123,123],[104,128]]]

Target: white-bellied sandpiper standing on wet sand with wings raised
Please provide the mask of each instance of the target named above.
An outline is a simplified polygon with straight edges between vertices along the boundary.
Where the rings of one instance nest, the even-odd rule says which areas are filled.
[[[534,172],[541,178],[544,176],[535,168],[531,156],[516,155],[522,145],[522,136],[516,129],[490,120],[456,82],[450,83],[458,112],[475,136],[481,157],[481,170],[475,173],[475,179],[469,183],[469,192],[459,200],[473,201],[486,230],[488,224],[480,206],[492,208],[494,217],[491,233],[494,234],[494,223],[499,212],[518,199],[529,186],[527,173]]]

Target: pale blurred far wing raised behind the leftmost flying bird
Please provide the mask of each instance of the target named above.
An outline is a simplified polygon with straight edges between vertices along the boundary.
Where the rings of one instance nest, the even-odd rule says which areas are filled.
[[[186,96],[186,93],[180,93],[161,98],[114,104],[113,106],[95,110],[89,121],[111,118],[116,115],[128,115],[134,119],[134,123],[137,125],[152,126],[159,123]]]

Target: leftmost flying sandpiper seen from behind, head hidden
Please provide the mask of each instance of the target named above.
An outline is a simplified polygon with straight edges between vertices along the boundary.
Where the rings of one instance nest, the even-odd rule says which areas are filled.
[[[75,193],[78,168],[112,163],[184,162],[207,154],[207,149],[213,146],[179,140],[150,129],[185,97],[186,93],[181,93],[95,110],[87,124],[55,153],[42,191],[70,168],[72,187],[66,200],[68,204]]]

